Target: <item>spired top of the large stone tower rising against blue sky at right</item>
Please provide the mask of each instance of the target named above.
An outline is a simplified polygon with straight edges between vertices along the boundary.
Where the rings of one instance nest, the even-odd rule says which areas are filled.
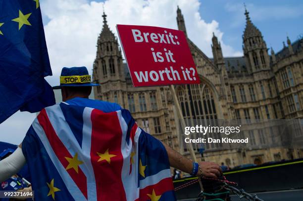
[[[243,35],[243,52],[249,69],[255,73],[269,69],[269,55],[261,32],[254,26],[245,8],[246,27]]]

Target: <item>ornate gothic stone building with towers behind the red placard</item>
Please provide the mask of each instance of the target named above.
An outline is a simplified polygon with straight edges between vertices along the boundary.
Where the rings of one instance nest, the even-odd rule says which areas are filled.
[[[233,148],[222,144],[205,144],[203,158],[194,146],[199,160],[243,163],[288,160],[303,157],[301,149],[266,147],[274,143],[274,133],[281,127],[257,127],[252,120],[303,118],[303,39],[271,55],[261,32],[254,26],[246,10],[242,57],[223,57],[220,42],[212,37],[213,58],[208,58],[189,38],[188,44],[201,83],[175,86],[183,116],[187,123],[196,120],[245,120],[243,134],[250,143]],[[140,127],[189,156],[184,147],[172,94],[168,86],[133,87],[127,65],[123,63],[117,38],[108,28],[103,13],[103,28],[98,38],[93,78],[101,85],[94,88],[95,99],[116,102],[131,111]],[[185,20],[177,9],[178,29],[187,36]],[[193,123],[193,122],[192,122]],[[278,129],[278,130],[277,130]],[[302,137],[302,126],[297,137]],[[279,139],[280,140],[280,139]]]

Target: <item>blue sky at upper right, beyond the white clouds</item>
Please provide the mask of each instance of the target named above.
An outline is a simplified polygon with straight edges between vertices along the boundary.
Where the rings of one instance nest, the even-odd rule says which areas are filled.
[[[292,42],[303,35],[303,1],[299,0],[201,0],[199,12],[206,22],[218,21],[224,42],[241,51],[244,2],[267,47],[275,52],[281,50],[287,35]]]

